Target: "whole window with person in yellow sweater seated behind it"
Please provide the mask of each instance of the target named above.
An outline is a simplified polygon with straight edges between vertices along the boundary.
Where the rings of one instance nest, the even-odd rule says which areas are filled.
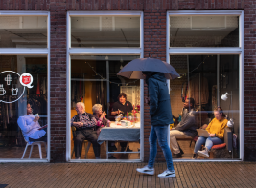
[[[243,11],[168,12],[168,61],[180,74],[170,80],[175,159],[244,158],[243,16]]]

